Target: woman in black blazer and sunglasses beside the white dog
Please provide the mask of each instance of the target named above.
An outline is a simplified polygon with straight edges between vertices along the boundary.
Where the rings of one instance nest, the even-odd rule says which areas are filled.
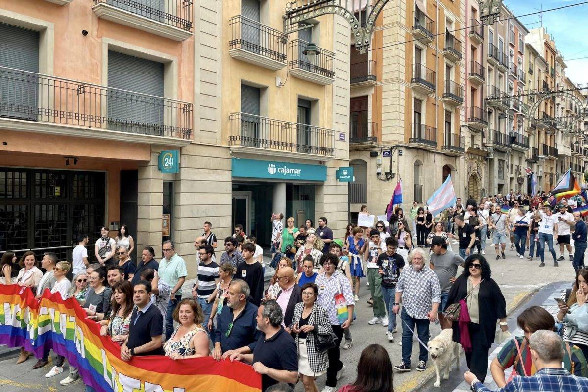
[[[506,331],[506,301],[498,284],[491,278],[492,271],[484,256],[472,254],[467,258],[463,273],[459,276],[447,297],[449,304],[466,299],[467,310],[472,319],[468,324],[472,350],[466,351],[467,367],[484,382],[488,366],[488,351],[496,335],[496,323],[500,319],[500,329]],[[453,341],[462,342],[463,331],[455,321],[452,325]]]

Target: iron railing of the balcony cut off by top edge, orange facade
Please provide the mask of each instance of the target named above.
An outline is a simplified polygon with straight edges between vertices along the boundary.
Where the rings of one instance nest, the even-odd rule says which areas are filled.
[[[113,7],[144,16],[153,21],[173,26],[185,31],[192,31],[192,1],[165,0],[133,1],[133,0],[93,0],[94,4],[108,4]]]

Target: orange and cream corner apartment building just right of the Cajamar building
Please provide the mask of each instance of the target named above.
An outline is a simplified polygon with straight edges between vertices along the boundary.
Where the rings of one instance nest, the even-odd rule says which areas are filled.
[[[399,178],[407,205],[426,202],[449,175],[467,195],[464,25],[459,2],[390,2],[376,20],[373,49],[352,48],[352,213],[362,204],[383,212]],[[479,192],[477,166],[470,170]]]

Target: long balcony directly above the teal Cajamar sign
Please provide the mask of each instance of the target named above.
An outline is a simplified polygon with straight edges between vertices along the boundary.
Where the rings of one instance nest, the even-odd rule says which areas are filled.
[[[272,150],[272,154],[283,152],[281,156],[290,157],[292,153],[300,153],[299,159],[332,157],[334,134],[332,129],[248,113],[229,115],[229,146],[242,153],[259,154],[260,150]],[[310,155],[310,158],[303,155]]]

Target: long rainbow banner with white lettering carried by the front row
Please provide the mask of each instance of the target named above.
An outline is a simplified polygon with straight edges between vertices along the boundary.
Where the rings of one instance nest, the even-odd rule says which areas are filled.
[[[259,392],[261,376],[247,364],[212,357],[174,361],[168,357],[133,357],[100,336],[75,299],[45,290],[37,301],[28,287],[0,285],[0,344],[25,347],[41,357],[46,348],[65,356],[83,382],[98,392],[239,391]]]

